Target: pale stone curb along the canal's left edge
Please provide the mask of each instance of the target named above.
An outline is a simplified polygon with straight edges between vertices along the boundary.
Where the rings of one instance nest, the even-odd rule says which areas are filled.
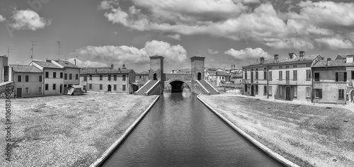
[[[115,149],[118,148],[118,146],[120,146],[120,144],[122,144],[122,142],[129,136],[130,132],[132,132],[132,130],[139,124],[139,122],[144,118],[145,115],[147,115],[147,113],[149,112],[149,110],[152,108],[152,106],[156,103],[156,101],[159,99],[160,96],[157,96],[155,98],[155,100],[149,105],[149,107],[147,108],[147,110],[144,111],[144,113],[142,113],[137,120],[135,120],[135,122],[132,123],[132,125],[130,125],[130,127],[128,127],[127,130],[125,130],[124,134],[122,135],[122,137],[120,137],[118,140],[116,140],[112,145],[110,145],[110,147],[105,150],[105,152],[102,154],[102,156],[97,159],[95,162],[91,163],[91,165],[89,167],[98,167],[101,166],[103,164],[103,162],[105,160],[108,159],[108,157],[113,154],[113,152],[115,151]]]

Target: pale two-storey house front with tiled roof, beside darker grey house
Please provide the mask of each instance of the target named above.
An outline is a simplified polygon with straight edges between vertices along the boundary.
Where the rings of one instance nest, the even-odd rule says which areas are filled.
[[[43,96],[62,95],[64,93],[64,69],[51,62],[32,61],[30,66],[42,71]]]

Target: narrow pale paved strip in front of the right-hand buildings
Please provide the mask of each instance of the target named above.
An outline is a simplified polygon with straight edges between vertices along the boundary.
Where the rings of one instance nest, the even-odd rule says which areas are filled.
[[[292,101],[287,101],[287,100],[275,100],[274,98],[259,98],[259,97],[254,97],[254,96],[245,96],[242,95],[241,93],[222,93],[219,96],[240,96],[244,98],[256,98],[260,100],[266,100],[266,101],[273,101],[276,103],[289,103],[289,104],[299,104],[299,105],[313,105],[313,106],[322,106],[326,108],[344,108],[352,111],[354,113],[354,103],[349,103],[347,102],[347,105],[343,104],[324,104],[324,103],[311,103],[311,101],[305,101],[305,100],[292,100]]]

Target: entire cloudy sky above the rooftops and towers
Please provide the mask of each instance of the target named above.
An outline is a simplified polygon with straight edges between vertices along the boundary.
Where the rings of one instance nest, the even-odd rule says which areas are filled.
[[[0,55],[29,64],[33,45],[33,59],[137,72],[155,54],[166,72],[190,68],[196,54],[216,68],[299,51],[333,59],[354,53],[353,8],[350,0],[1,0]]]

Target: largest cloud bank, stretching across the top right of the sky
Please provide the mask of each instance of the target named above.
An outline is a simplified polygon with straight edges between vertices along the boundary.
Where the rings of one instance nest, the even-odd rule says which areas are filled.
[[[282,0],[132,0],[120,6],[101,3],[108,21],[128,28],[158,30],[169,38],[211,35],[256,41],[277,49],[313,50],[323,38],[348,36],[354,28],[354,3]],[[178,36],[174,39],[179,39]],[[344,42],[354,42],[352,38]],[[326,42],[329,49],[342,48]]]

